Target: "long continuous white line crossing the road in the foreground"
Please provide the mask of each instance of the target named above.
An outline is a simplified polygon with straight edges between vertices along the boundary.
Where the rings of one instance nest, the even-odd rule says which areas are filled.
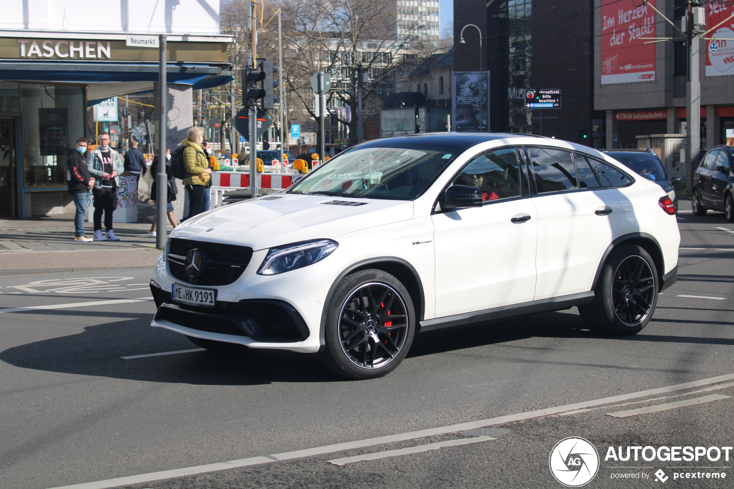
[[[210,463],[205,466],[174,468],[172,470],[150,472],[148,474],[117,477],[115,479],[98,480],[95,482],[82,482],[81,484],[65,485],[62,487],[51,489],[116,488],[120,485],[142,484],[144,482],[153,482],[161,479],[172,479],[173,477],[184,477],[194,474],[203,474],[206,472],[223,471],[229,468],[258,466],[264,463],[273,463],[304,457],[315,457],[317,455],[326,455],[327,453],[346,452],[347,450],[363,449],[367,448],[368,446],[384,445],[388,443],[394,443],[396,441],[413,440],[415,438],[424,438],[426,436],[433,435],[445,435],[446,433],[455,433],[457,431],[473,430],[475,428],[495,426],[497,424],[505,424],[514,421],[520,421],[522,419],[550,416],[552,414],[563,413],[565,411],[574,411],[576,409],[589,408],[596,405],[611,404],[612,402],[635,399],[636,397],[647,397],[655,394],[663,394],[664,392],[675,392],[683,389],[692,389],[694,387],[706,386],[712,383],[724,382],[726,380],[734,380],[734,374],[719,375],[718,377],[695,380],[694,382],[679,383],[675,386],[660,387],[658,389],[648,389],[646,391],[633,392],[631,394],[620,394],[618,396],[604,397],[602,399],[592,401],[575,402],[574,404],[557,406],[555,408],[539,409],[537,411],[528,411],[526,413],[511,414],[509,416],[498,416],[496,418],[482,419],[479,421],[451,424],[450,426],[443,426],[438,428],[429,428],[428,430],[412,431],[409,433],[400,433],[398,435],[379,436],[377,438],[367,438],[365,440],[349,441],[341,444],[317,446],[315,448],[305,450],[295,450],[294,452],[283,452],[274,455],[243,458],[240,460],[229,460],[228,462]]]

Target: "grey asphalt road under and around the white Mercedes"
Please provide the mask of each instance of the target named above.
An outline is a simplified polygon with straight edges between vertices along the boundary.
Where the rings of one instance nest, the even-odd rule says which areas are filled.
[[[120,487],[560,488],[548,455],[568,436],[586,438],[600,452],[598,474],[586,487],[660,485],[658,469],[669,477],[665,485],[731,487],[734,451],[730,461],[604,460],[612,445],[733,445],[727,396],[734,387],[726,379],[625,396],[718,376],[734,380],[734,232],[717,229],[734,230],[734,224],[710,214],[680,213],[679,282],[658,298],[655,317],[636,336],[591,334],[573,308],[419,334],[399,369],[359,382],[335,378],[310,356],[290,352],[121,358],[197,348],[148,326],[155,306],[145,300],[145,268],[0,277],[1,308],[81,304],[0,309],[0,488],[57,488],[487,419],[492,426],[479,430],[439,429],[391,444],[363,442],[330,455],[315,450],[299,460],[269,463],[271,457],[258,466],[152,482],[146,481],[155,477],[143,477]],[[131,299],[140,300],[123,302]],[[607,415],[711,395],[718,397]],[[612,396],[625,399],[591,402]],[[578,402],[587,405],[522,415]],[[491,421],[509,415],[517,420]],[[341,466],[327,462],[467,441],[473,443]],[[674,479],[669,466],[729,478]],[[625,471],[639,479],[612,479],[612,472]]]

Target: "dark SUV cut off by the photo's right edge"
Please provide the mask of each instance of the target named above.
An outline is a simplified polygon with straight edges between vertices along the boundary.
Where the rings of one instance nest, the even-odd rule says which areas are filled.
[[[693,176],[693,213],[704,216],[707,210],[723,211],[727,221],[734,222],[734,174],[732,172],[734,147],[716,146],[709,150]]]

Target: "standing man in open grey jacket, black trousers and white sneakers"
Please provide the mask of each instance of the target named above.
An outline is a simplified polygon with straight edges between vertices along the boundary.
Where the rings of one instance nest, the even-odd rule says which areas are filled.
[[[94,196],[94,238],[95,241],[119,241],[112,230],[112,213],[117,208],[117,177],[125,171],[120,153],[109,146],[109,133],[98,134],[99,146],[87,156],[87,169],[95,177],[92,196]],[[102,234],[102,213],[104,213],[105,234]]]

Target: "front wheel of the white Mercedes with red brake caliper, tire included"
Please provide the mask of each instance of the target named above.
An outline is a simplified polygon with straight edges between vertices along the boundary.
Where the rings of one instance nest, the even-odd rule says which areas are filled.
[[[382,270],[359,271],[334,290],[317,358],[342,377],[382,377],[403,361],[414,333],[415,308],[404,285]]]

